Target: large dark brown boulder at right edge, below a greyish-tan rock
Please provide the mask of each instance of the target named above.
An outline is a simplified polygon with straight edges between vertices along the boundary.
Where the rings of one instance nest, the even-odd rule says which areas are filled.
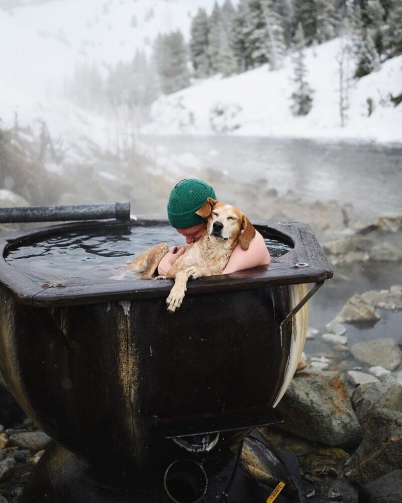
[[[363,485],[402,466],[402,412],[373,408],[361,421],[364,436],[346,476]]]

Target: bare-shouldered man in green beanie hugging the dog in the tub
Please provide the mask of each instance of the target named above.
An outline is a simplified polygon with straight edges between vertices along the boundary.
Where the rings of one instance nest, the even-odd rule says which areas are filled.
[[[195,212],[203,206],[207,198],[217,199],[211,185],[196,178],[187,178],[176,184],[170,192],[167,204],[169,223],[177,232],[185,237],[187,244],[198,240],[204,233],[207,220]],[[165,275],[173,262],[184,253],[184,248],[177,250],[172,246],[159,262],[158,273]],[[243,269],[264,266],[271,263],[269,251],[264,238],[257,231],[247,250],[238,243],[233,250],[228,264],[222,274],[234,273]]]

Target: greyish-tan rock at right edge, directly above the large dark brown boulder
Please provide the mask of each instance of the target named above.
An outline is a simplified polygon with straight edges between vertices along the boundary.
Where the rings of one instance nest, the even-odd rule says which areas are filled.
[[[359,419],[374,407],[402,412],[402,385],[378,380],[363,383],[353,391],[351,400]]]

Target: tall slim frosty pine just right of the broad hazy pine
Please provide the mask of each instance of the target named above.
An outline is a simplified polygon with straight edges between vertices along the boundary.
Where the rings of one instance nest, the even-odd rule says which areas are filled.
[[[209,26],[205,9],[198,9],[191,23],[190,57],[194,75],[206,77],[210,74]]]

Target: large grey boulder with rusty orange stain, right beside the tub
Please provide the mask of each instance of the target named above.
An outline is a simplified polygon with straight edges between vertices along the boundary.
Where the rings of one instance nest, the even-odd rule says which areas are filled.
[[[342,375],[336,372],[295,374],[277,406],[279,428],[325,445],[356,447],[362,431]]]

